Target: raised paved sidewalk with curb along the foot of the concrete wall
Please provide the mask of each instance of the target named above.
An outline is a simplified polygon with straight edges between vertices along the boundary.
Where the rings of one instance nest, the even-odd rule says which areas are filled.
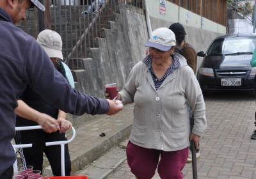
[[[133,106],[134,104],[125,105],[120,113],[113,116],[97,115],[97,118],[86,121],[75,128],[76,137],[68,144],[72,162],[71,175],[129,137],[133,120]],[[106,136],[100,137],[99,134],[102,132]],[[66,134],[70,139],[72,131],[68,131]],[[52,176],[50,166],[44,169],[44,176]]]

